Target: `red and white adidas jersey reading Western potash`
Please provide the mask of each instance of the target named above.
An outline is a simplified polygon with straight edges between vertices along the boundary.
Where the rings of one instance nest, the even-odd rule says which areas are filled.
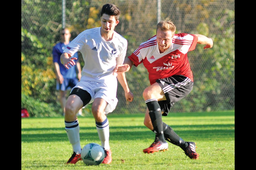
[[[193,81],[187,52],[195,49],[197,40],[197,36],[193,34],[175,34],[170,48],[160,53],[156,36],[154,36],[141,43],[128,58],[134,62],[136,67],[143,63],[149,72],[150,84],[155,83],[157,79],[172,75],[184,75]]]

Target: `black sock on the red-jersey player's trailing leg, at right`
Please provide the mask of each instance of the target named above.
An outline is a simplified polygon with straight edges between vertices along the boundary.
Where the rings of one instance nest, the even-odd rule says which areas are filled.
[[[168,126],[165,122],[162,122],[162,124],[163,124],[163,133],[164,133],[165,140],[174,145],[179,146],[183,151],[185,151],[186,147],[188,146],[188,143],[184,141],[182,138],[180,138],[173,131],[173,129],[170,126]]]

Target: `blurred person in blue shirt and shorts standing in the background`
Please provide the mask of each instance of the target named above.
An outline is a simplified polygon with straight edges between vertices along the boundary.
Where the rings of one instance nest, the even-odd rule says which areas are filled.
[[[65,28],[60,31],[61,37],[60,42],[53,47],[53,63],[56,74],[56,90],[59,91],[59,101],[64,114],[65,104],[66,104],[66,94],[67,90],[73,88],[81,78],[81,65],[78,61],[78,54],[75,53],[73,57],[77,58],[75,60],[76,67],[66,69],[63,64],[61,64],[60,56],[63,50],[70,43],[70,31]],[[82,109],[79,110],[78,115],[82,115]]]

